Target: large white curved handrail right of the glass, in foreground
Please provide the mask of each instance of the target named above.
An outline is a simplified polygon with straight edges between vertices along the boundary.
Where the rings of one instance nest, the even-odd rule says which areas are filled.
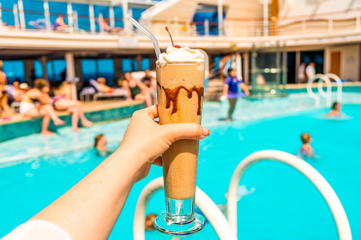
[[[278,150],[262,150],[248,155],[236,167],[228,188],[227,211],[228,221],[234,235],[237,235],[237,189],[243,173],[254,163],[262,160],[274,160],[286,163],[305,175],[318,189],[334,217],[340,240],[352,240],[350,225],[345,210],[326,179],[304,160]]]

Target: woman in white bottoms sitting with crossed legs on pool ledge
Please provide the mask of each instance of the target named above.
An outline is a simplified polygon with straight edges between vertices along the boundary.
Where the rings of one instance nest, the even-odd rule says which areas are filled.
[[[25,117],[43,118],[42,122],[42,135],[52,135],[53,132],[48,130],[50,119],[53,120],[55,126],[64,125],[55,113],[51,104],[49,104],[49,85],[44,79],[35,81],[35,88],[28,90],[20,103],[20,113]],[[35,105],[38,103],[38,105]]]

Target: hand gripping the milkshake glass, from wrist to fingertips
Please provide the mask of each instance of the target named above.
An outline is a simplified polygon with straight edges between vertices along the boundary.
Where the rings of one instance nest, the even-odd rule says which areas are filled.
[[[162,166],[161,154],[179,139],[204,139],[210,131],[197,123],[159,125],[158,106],[154,105],[133,113],[119,149],[135,153],[141,164],[137,181],[146,177],[151,164]]]

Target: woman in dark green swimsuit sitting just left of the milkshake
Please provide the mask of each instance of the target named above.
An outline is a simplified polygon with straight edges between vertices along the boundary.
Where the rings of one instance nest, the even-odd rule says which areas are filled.
[[[128,100],[134,99],[145,101],[146,107],[152,105],[152,97],[149,88],[140,80],[132,78],[130,72],[124,73],[122,85],[128,92]]]

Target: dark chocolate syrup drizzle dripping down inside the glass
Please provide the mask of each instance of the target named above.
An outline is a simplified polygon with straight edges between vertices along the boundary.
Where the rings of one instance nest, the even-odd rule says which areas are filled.
[[[181,91],[181,89],[184,89],[187,91],[187,97],[189,99],[192,98],[192,93],[193,92],[196,92],[197,95],[198,95],[198,110],[197,110],[197,115],[198,116],[201,116],[201,100],[202,100],[202,97],[203,97],[203,91],[204,91],[204,87],[196,87],[196,86],[193,86],[191,89],[187,89],[186,87],[184,86],[179,86],[179,87],[176,87],[175,89],[168,89],[168,88],[165,88],[165,87],[162,87],[160,86],[160,84],[157,82],[157,85],[164,90],[164,93],[165,93],[165,101],[166,101],[166,105],[165,105],[165,108],[168,109],[170,108],[170,103],[172,103],[173,105],[173,108],[172,108],[172,112],[171,114],[173,113],[176,113],[178,111],[178,95],[179,95],[179,92]]]

